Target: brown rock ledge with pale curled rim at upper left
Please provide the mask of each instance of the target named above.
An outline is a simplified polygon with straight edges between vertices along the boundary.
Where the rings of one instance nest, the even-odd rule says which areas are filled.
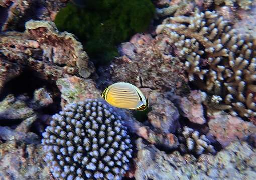
[[[25,68],[50,80],[69,75],[89,77],[94,71],[82,44],[73,34],[58,32],[50,21],[30,20],[24,33],[2,33],[0,58],[3,72],[0,87]]]

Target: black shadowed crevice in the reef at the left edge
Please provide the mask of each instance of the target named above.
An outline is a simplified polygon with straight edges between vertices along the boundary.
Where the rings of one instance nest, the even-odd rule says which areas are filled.
[[[52,95],[53,103],[45,107],[34,109],[34,106],[31,106],[31,101],[33,100],[35,90],[39,88],[45,88]],[[34,112],[38,115],[53,115],[61,110],[60,91],[55,82],[39,78],[37,77],[37,73],[31,70],[25,70],[21,75],[7,82],[0,93],[0,101],[10,94],[13,94],[15,97],[25,95],[27,98],[22,101],[24,101],[28,107],[33,108]],[[3,119],[1,122],[3,123],[1,125],[9,126],[11,124],[19,124],[21,120]]]

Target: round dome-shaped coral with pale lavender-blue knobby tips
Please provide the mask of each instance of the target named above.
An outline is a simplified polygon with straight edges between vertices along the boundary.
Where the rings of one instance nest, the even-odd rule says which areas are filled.
[[[132,144],[127,128],[108,105],[88,99],[53,116],[43,133],[53,176],[58,179],[121,179]]]

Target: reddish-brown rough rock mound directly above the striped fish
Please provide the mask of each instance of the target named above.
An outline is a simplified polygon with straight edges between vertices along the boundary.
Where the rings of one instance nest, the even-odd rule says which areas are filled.
[[[166,39],[145,36],[132,41],[134,53],[114,60],[106,69],[110,71],[112,81],[129,82],[138,88],[179,91],[186,86],[183,64],[177,58],[165,55],[170,50]]]

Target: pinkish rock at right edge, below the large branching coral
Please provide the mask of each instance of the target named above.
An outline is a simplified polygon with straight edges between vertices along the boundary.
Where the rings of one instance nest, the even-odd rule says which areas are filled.
[[[245,140],[249,135],[256,133],[256,126],[253,123],[224,112],[211,116],[208,125],[209,134],[214,135],[224,147],[232,141]]]

